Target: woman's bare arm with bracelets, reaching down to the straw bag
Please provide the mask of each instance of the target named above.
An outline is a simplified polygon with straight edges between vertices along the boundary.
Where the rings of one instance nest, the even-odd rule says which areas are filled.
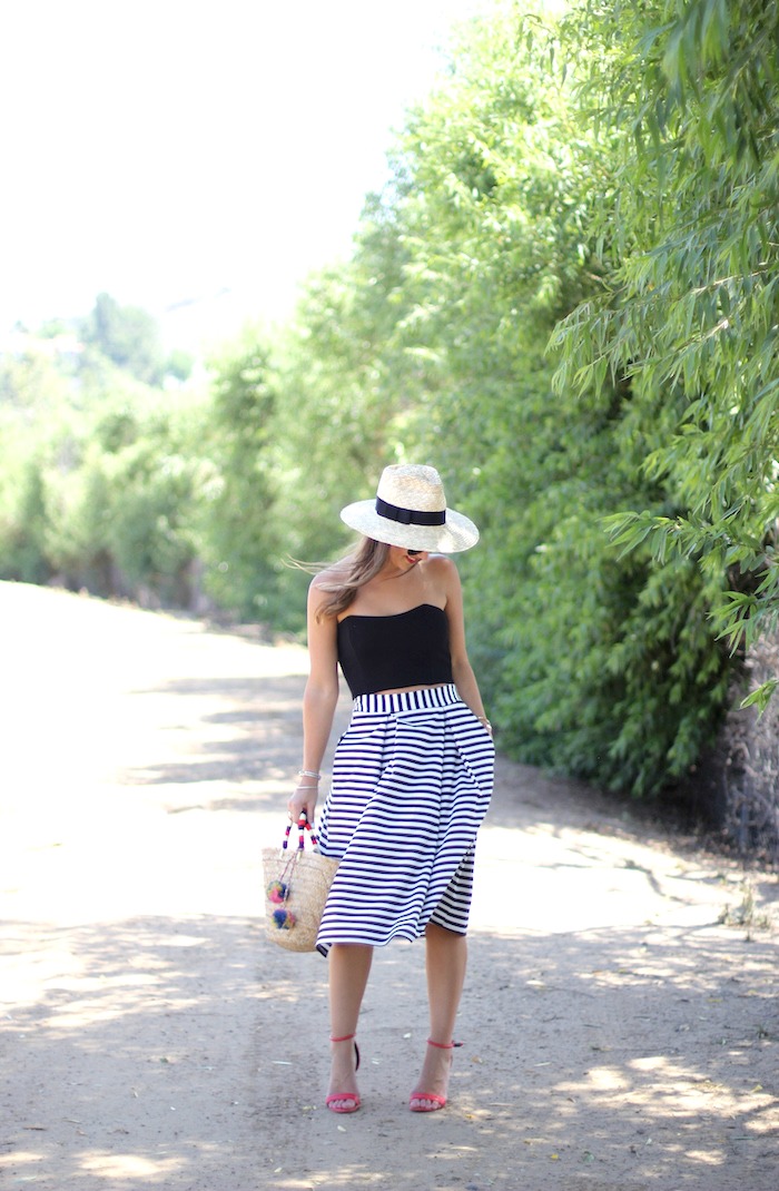
[[[288,803],[289,817],[297,822],[305,815],[313,824],[318,774],[330,740],[332,717],[338,701],[338,646],[335,617],[317,621],[317,611],[328,598],[314,579],[309,588],[309,680],[303,696],[303,763],[307,771],[298,778],[298,788]]]

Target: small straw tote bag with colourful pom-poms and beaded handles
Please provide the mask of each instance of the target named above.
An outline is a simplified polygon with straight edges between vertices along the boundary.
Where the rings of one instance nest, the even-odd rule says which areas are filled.
[[[262,849],[266,886],[266,934],[288,952],[316,950],[319,923],[338,861],[313,849],[317,837],[305,816],[298,822],[298,847],[288,848],[292,823],[280,848]],[[306,831],[310,850],[305,849]]]

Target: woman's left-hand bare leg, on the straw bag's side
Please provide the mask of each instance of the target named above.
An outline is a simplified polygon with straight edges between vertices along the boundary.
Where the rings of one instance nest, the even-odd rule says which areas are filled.
[[[357,1083],[355,1079],[355,1047],[349,1035],[357,1033],[357,1017],[368,984],[373,947],[357,943],[334,943],[328,965],[330,968],[330,1036],[344,1039],[332,1042],[332,1066],[329,1096],[343,1098],[332,1102],[332,1108],[354,1106]]]

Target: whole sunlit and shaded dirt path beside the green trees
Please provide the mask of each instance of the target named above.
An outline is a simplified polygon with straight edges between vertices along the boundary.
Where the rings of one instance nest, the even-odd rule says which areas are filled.
[[[405,1106],[400,943],[337,1117],[326,964],[261,917],[303,650],[7,584],[0,624],[0,1185],[777,1191],[773,878],[501,762],[450,1105]]]

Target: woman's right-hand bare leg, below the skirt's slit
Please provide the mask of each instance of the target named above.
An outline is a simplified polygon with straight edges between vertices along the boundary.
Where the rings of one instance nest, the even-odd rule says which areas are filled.
[[[434,1042],[453,1041],[455,1018],[466,979],[468,943],[465,935],[455,935],[444,927],[429,923],[425,929],[425,965],[428,973],[428,1002],[430,1006],[430,1039]],[[441,1046],[429,1046],[425,1050],[417,1092],[411,1093],[411,1106],[417,1110],[442,1108],[440,1100],[431,1100],[424,1093],[445,1100],[451,1070],[451,1050]]]

